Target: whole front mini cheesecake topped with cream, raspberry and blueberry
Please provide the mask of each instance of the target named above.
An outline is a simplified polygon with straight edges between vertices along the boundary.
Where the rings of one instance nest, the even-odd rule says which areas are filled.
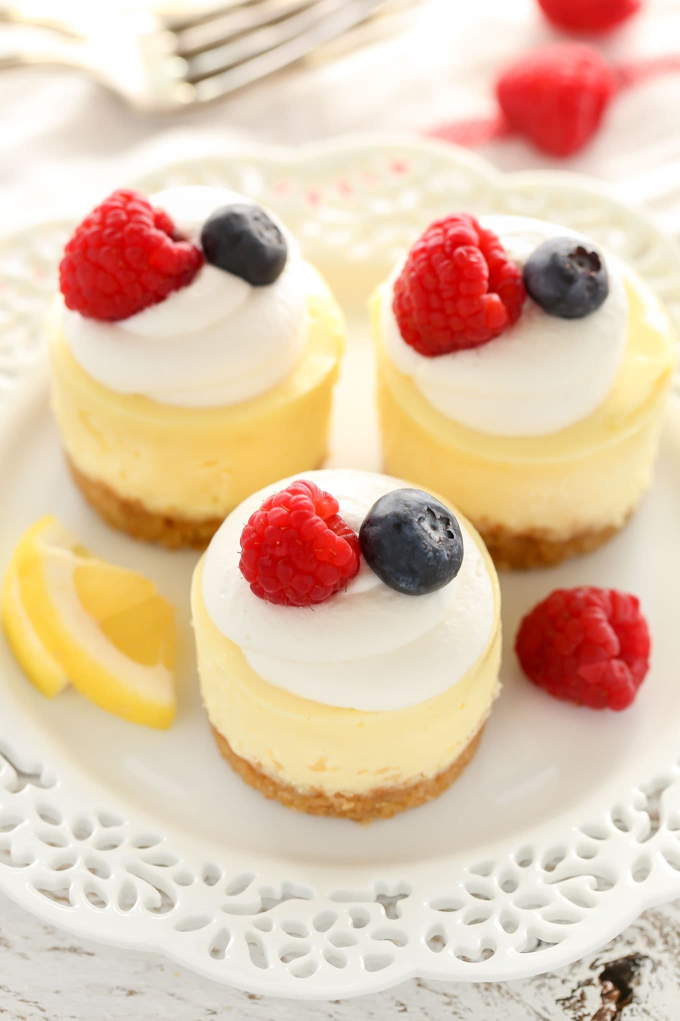
[[[435,797],[499,693],[483,542],[398,479],[310,472],[255,493],[198,564],[192,613],[219,750],[313,815],[367,821]]]

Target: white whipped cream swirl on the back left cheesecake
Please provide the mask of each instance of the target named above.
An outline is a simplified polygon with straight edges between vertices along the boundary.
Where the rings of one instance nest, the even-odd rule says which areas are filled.
[[[168,188],[150,201],[195,244],[220,206],[255,204],[202,186]],[[110,390],[185,407],[238,404],[275,386],[305,349],[307,298],[321,282],[290,232],[271,218],[287,245],[273,284],[253,287],[206,262],[189,286],[126,320],[102,323],[64,308],[64,337],[75,360]]]

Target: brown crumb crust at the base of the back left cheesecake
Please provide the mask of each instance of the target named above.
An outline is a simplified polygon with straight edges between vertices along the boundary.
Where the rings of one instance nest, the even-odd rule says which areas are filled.
[[[73,481],[90,506],[107,524],[134,539],[159,542],[169,549],[178,549],[180,546],[205,549],[222,524],[222,518],[192,520],[148,510],[140,500],[119,496],[110,486],[84,475],[69,457],[66,459]]]

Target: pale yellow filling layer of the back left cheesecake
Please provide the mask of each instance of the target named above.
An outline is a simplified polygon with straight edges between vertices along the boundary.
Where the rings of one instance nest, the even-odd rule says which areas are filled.
[[[71,354],[61,313],[59,298],[48,352],[61,439],[75,468],[117,495],[157,514],[219,518],[268,482],[324,458],[345,341],[343,314],[325,286],[309,295],[307,347],[294,371],[228,407],[178,407],[102,386]]]

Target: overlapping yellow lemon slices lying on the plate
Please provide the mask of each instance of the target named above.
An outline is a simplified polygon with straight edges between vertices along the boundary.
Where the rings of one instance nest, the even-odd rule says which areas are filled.
[[[2,592],[2,624],[31,681],[52,697],[70,682],[101,709],[169,727],[174,612],[153,582],[93,556],[54,518],[19,540]]]

